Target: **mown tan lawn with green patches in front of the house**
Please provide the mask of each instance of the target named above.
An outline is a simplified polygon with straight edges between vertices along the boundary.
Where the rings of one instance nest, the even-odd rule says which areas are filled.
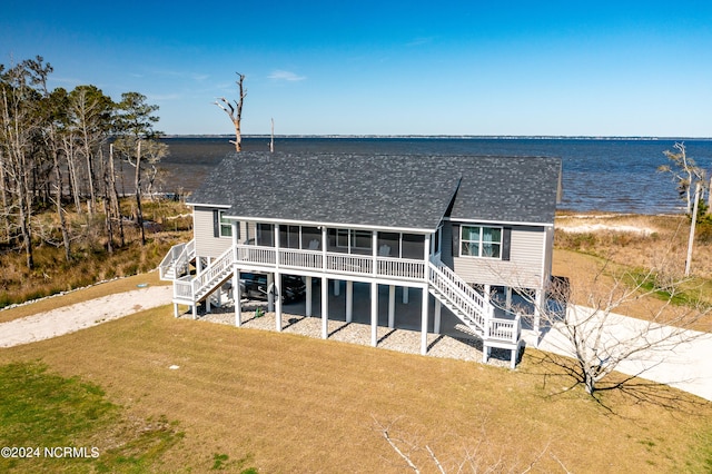
[[[379,431],[387,426],[423,472],[435,471],[426,445],[448,472],[467,453],[481,468],[516,472],[534,461],[533,472],[712,470],[712,404],[665,387],[657,393],[668,407],[615,392],[599,404],[544,364],[528,350],[510,372],[174,319],[162,307],[1,349],[3,392],[24,399],[4,409],[2,444],[90,445],[100,456],[0,467],[408,472]],[[40,374],[40,385],[21,395],[17,367]],[[70,395],[52,397],[58,386]],[[40,414],[23,415],[32,411]],[[86,421],[50,431],[63,422],[42,411]],[[145,431],[155,433],[142,442]]]

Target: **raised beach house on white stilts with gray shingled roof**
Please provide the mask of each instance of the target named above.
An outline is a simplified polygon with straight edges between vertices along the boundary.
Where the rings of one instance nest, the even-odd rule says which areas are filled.
[[[507,348],[514,367],[522,322],[506,309],[513,290],[545,298],[560,189],[557,158],[240,152],[189,197],[195,237],[170,250],[161,277],[174,280],[176,316],[189,305],[195,317],[226,283],[240,302],[241,271],[266,274],[281,330],[281,298],[271,296],[284,275],[300,276],[306,316],[316,300],[324,338],[330,288],[345,287],[348,323],[354,283],[367,284],[374,346],[379,286],[389,327],[397,288],[419,304],[423,354],[428,328],[439,332],[449,310],[482,338],[485,362],[492,347]],[[241,312],[236,304],[237,326]]]

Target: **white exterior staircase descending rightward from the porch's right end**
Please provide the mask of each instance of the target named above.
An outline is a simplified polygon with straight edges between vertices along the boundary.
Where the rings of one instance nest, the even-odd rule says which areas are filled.
[[[516,366],[522,345],[522,319],[517,314],[513,319],[497,318],[495,308],[473,287],[439,259],[428,265],[428,288],[464,324],[464,332],[482,339],[483,362],[487,362],[493,347],[510,349],[510,365]]]

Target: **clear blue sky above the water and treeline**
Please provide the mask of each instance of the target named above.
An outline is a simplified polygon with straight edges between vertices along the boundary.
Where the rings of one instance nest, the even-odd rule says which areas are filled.
[[[138,91],[167,134],[712,137],[712,2],[46,2],[0,9],[0,63]]]

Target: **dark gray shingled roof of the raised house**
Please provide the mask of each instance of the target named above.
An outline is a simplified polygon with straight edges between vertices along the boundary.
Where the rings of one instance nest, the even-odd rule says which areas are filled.
[[[455,197],[453,218],[553,223],[558,170],[553,158],[240,152],[188,203],[255,219],[435,229]]]

